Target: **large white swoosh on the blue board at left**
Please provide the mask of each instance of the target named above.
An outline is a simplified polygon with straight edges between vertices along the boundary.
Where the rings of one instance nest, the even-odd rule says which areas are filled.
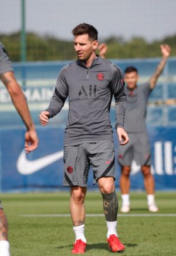
[[[58,151],[56,153],[46,155],[45,157],[40,157],[30,161],[26,158],[25,151],[22,151],[18,157],[16,168],[20,174],[29,175],[52,164],[53,162],[56,162],[61,158],[63,158],[63,151]]]

